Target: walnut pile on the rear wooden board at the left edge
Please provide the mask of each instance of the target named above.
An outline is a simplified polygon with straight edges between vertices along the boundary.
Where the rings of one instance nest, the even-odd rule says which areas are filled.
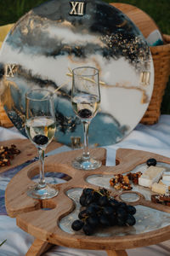
[[[10,160],[14,159],[14,156],[20,154],[20,149],[16,148],[14,144],[10,148],[1,146],[0,147],[0,167],[10,166]]]

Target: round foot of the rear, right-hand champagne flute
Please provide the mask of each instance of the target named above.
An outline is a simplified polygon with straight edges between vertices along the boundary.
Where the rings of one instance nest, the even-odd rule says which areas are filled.
[[[95,160],[91,157],[88,160],[84,160],[82,157],[77,157],[72,161],[72,166],[81,170],[94,170],[99,168],[101,165],[101,161]]]

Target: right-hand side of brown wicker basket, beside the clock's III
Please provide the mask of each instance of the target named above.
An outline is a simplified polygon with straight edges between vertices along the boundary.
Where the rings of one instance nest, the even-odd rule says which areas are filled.
[[[150,47],[154,61],[155,83],[150,105],[140,123],[153,125],[161,114],[161,102],[170,75],[170,36],[163,35],[166,44]]]

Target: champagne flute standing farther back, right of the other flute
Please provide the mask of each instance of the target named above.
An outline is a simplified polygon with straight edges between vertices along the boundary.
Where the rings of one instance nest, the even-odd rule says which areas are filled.
[[[84,145],[81,157],[72,161],[77,169],[93,170],[101,166],[88,152],[88,127],[99,109],[99,70],[94,67],[77,67],[72,70],[71,103],[74,112],[82,120]]]

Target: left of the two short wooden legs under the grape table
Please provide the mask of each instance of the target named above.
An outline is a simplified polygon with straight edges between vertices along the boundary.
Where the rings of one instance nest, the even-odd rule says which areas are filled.
[[[48,243],[48,241],[35,239],[28,252],[26,253],[26,256],[40,256],[42,253],[47,252],[47,250],[52,246],[54,245]]]

